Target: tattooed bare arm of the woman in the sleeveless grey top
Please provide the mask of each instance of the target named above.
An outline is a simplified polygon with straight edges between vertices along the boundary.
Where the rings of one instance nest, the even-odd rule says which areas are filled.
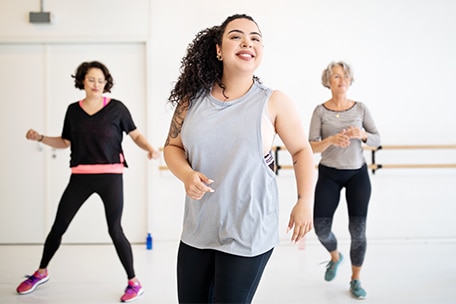
[[[185,114],[186,111],[178,105],[171,120],[163,156],[168,169],[184,183],[187,195],[198,200],[206,192],[213,192],[214,190],[207,186],[212,181],[204,174],[194,171],[185,156],[184,145],[180,136]]]

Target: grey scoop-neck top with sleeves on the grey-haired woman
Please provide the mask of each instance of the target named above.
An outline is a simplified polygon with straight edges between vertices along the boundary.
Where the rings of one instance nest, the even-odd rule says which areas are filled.
[[[361,102],[345,111],[333,111],[318,105],[310,121],[309,141],[321,141],[348,127],[358,127],[367,132],[366,145],[380,145],[380,134],[366,105]],[[366,163],[360,139],[351,139],[350,146],[329,146],[321,153],[320,164],[336,169],[359,169]]]

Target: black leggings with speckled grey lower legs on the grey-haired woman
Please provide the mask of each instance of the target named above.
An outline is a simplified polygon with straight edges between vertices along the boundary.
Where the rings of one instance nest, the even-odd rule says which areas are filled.
[[[342,188],[345,188],[349,216],[350,259],[353,266],[360,267],[366,254],[366,217],[371,195],[371,183],[366,165],[357,170],[318,166],[314,202],[315,233],[326,250],[332,252],[337,249],[332,223]]]

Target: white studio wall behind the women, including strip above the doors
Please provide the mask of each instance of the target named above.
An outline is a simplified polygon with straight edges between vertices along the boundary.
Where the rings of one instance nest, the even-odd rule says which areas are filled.
[[[320,84],[322,69],[341,59],[355,72],[349,96],[369,106],[384,145],[456,142],[456,3],[451,0],[47,0],[45,10],[55,15],[55,24],[29,24],[28,12],[38,9],[38,0],[0,0],[0,42],[147,42],[147,135],[157,146],[166,138],[172,115],[166,100],[187,44],[199,30],[234,13],[247,13],[259,23],[265,58],[257,75],[296,101],[306,128],[313,108],[329,97]],[[381,151],[378,157],[385,162],[456,162],[454,150]],[[157,239],[177,239],[182,185],[156,168],[148,178],[150,229]],[[377,171],[370,236],[456,237],[455,182],[455,169]],[[280,173],[279,184],[282,233],[295,197],[291,173]],[[344,206],[336,229],[347,236]]]

